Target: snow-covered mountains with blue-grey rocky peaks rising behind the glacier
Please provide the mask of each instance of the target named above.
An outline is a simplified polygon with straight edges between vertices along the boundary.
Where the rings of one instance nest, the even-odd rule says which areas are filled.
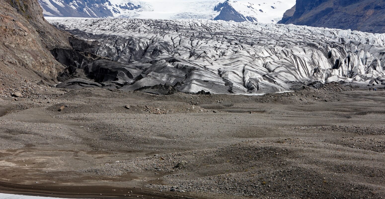
[[[295,0],[39,0],[45,16],[276,23]]]

